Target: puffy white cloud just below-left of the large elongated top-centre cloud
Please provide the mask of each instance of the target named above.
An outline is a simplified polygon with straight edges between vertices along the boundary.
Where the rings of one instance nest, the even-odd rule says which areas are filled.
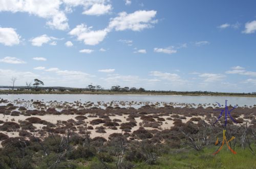
[[[92,27],[85,24],[77,25],[69,32],[69,35],[76,36],[78,41],[83,41],[86,45],[97,45],[104,40],[108,30],[91,31]]]

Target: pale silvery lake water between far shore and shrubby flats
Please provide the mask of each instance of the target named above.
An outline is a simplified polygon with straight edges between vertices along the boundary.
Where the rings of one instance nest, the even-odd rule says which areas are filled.
[[[0,95],[1,99],[14,101],[17,99],[24,100],[41,100],[41,101],[81,101],[81,102],[111,102],[111,101],[137,101],[137,102],[165,102],[165,103],[190,103],[190,104],[216,104],[219,102],[225,105],[253,106],[256,104],[255,97],[226,97],[226,96],[180,96],[180,95],[88,95],[88,94],[8,94]]]

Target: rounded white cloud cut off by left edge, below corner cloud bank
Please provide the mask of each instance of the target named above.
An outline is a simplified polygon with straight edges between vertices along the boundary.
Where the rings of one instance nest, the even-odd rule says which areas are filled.
[[[6,46],[13,46],[19,44],[19,42],[20,36],[16,33],[15,29],[11,27],[0,27],[0,43]]]

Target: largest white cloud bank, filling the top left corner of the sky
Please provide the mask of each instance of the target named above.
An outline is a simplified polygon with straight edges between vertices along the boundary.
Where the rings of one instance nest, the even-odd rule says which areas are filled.
[[[0,12],[12,13],[26,12],[41,18],[47,19],[47,24],[58,30],[69,29],[68,19],[63,11],[60,11],[60,0],[9,0],[0,2]]]

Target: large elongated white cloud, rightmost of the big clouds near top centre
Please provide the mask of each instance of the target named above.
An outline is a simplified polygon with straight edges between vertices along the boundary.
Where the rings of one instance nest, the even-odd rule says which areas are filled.
[[[142,31],[143,29],[153,27],[157,20],[153,20],[157,11],[135,11],[127,14],[126,12],[119,13],[118,17],[111,18],[109,29],[116,31],[132,30]]]

